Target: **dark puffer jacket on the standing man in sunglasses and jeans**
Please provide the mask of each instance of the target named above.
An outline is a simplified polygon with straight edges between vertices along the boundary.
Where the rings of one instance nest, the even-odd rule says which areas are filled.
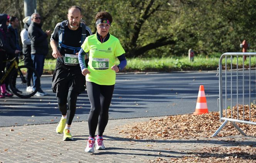
[[[29,26],[29,39],[31,41],[31,54],[46,55],[49,51],[47,37],[42,30],[42,25],[31,22]]]

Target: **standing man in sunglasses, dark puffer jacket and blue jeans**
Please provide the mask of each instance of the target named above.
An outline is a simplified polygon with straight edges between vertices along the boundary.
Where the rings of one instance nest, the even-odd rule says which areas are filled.
[[[28,29],[29,39],[31,41],[31,58],[35,70],[37,71],[39,76],[42,76],[44,70],[44,59],[49,51],[47,37],[51,34],[51,31],[47,30],[46,32],[44,32],[42,30],[41,17],[38,13],[33,13],[31,15],[31,20],[32,22]],[[39,83],[35,81],[37,81],[37,77],[35,76],[35,74],[33,74],[33,89],[39,86],[39,90],[35,95],[47,95],[41,89],[40,79]]]

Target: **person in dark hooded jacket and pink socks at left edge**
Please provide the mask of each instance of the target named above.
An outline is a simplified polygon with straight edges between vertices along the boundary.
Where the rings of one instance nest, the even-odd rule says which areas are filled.
[[[6,63],[4,63],[3,61],[5,61],[7,59],[7,54],[18,54],[20,53],[20,51],[18,49],[15,49],[15,47],[11,47],[11,45],[13,46],[13,44],[11,44],[12,40],[10,39],[10,36],[8,35],[8,30],[7,30],[7,26],[10,23],[10,16],[7,14],[0,14],[0,79],[3,77],[3,74],[5,72],[5,66]],[[1,94],[0,94],[0,98],[4,98],[4,97],[12,97],[13,94],[9,94],[8,92],[6,92],[6,87],[3,83],[0,83],[0,88],[1,88]]]

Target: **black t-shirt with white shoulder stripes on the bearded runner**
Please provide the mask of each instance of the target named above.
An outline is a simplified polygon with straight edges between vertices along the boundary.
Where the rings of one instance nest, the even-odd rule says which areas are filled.
[[[86,37],[92,35],[91,29],[88,26],[85,26],[85,27],[86,27]],[[57,42],[57,44],[59,44],[60,28],[61,28],[61,23],[57,23],[57,25],[51,35],[51,40],[55,40]],[[62,38],[62,44],[66,45],[66,46],[75,47],[75,48],[81,48],[81,45],[82,45],[81,38],[82,38],[82,26],[80,25],[80,27],[77,30],[70,30],[68,28],[68,23],[66,23],[65,29],[64,29],[64,35]],[[59,46],[58,46],[58,49],[60,50]],[[76,51],[76,52],[78,52],[78,51]],[[65,54],[75,54],[76,52],[74,52],[74,50],[64,48],[62,45],[62,48],[60,50],[62,57],[58,57],[57,62],[59,62],[61,65],[65,65],[64,64]],[[65,65],[65,66],[70,67],[69,65]],[[79,64],[77,66],[79,66]],[[71,66],[71,67],[74,67],[74,66]]]

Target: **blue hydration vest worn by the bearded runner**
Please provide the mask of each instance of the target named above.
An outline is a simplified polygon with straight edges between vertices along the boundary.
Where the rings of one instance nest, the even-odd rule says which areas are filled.
[[[62,44],[62,39],[64,37],[64,30],[65,30],[65,26],[68,25],[68,20],[64,20],[61,23],[61,28],[59,29],[59,47],[61,51],[61,48],[67,48],[70,50],[74,50],[74,54],[76,54],[77,52],[80,51],[81,47],[72,47],[72,46],[67,46],[65,44]],[[80,27],[82,28],[82,36],[81,36],[81,46],[84,43],[84,40],[86,38],[86,25],[84,25],[83,23],[80,23]]]

